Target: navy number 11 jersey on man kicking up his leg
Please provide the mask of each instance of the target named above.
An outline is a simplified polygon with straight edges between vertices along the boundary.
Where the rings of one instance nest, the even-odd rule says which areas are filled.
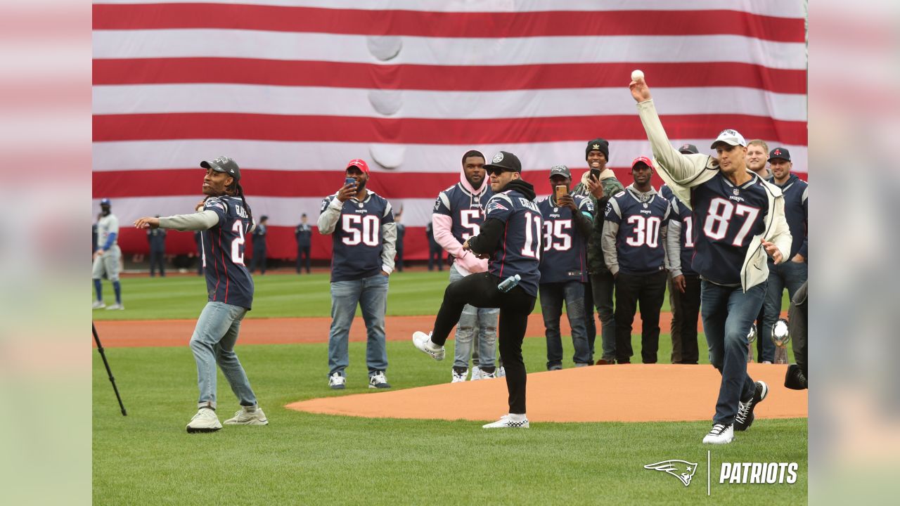
[[[519,275],[519,286],[533,297],[537,296],[541,271],[541,235],[544,226],[537,204],[516,190],[507,190],[491,197],[485,219],[495,218],[506,224],[500,239],[500,249],[494,252],[488,272],[500,277]]]

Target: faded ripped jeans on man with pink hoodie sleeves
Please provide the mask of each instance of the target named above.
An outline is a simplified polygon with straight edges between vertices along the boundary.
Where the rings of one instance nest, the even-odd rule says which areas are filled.
[[[450,283],[463,279],[456,270],[456,264],[450,266]],[[465,304],[463,313],[456,324],[454,336],[454,367],[469,368],[469,356],[473,364],[479,367],[493,367],[497,357],[497,318],[500,309],[477,308]],[[475,340],[476,353],[472,353]],[[476,355],[477,354],[477,355]]]

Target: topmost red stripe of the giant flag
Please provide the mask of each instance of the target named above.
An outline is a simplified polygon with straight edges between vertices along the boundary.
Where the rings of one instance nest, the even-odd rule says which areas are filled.
[[[276,5],[94,5],[94,30],[189,28],[451,38],[726,34],[804,41],[801,18],[726,10],[438,13]]]

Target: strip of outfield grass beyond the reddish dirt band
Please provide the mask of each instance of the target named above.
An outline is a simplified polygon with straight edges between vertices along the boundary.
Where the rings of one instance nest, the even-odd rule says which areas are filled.
[[[388,315],[435,314],[444,298],[447,271],[394,273],[388,289]],[[247,318],[328,316],[331,311],[329,275],[268,274],[254,276],[253,311]],[[200,276],[124,277],[121,281],[125,311],[94,311],[94,320],[195,319],[206,304],[206,283]],[[103,282],[107,302],[112,286]],[[93,290],[92,290],[93,297]],[[787,293],[784,309],[788,308]],[[662,303],[669,311],[669,298]],[[535,312],[541,312],[540,303]],[[357,309],[357,315],[359,311]]]

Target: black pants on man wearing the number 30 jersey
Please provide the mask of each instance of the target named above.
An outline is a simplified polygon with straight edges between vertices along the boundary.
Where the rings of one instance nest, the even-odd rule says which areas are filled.
[[[644,364],[656,363],[660,348],[660,311],[666,296],[665,271],[635,276],[619,272],[616,276],[616,361],[631,362],[631,329],[638,303],[641,304],[641,358]]]

